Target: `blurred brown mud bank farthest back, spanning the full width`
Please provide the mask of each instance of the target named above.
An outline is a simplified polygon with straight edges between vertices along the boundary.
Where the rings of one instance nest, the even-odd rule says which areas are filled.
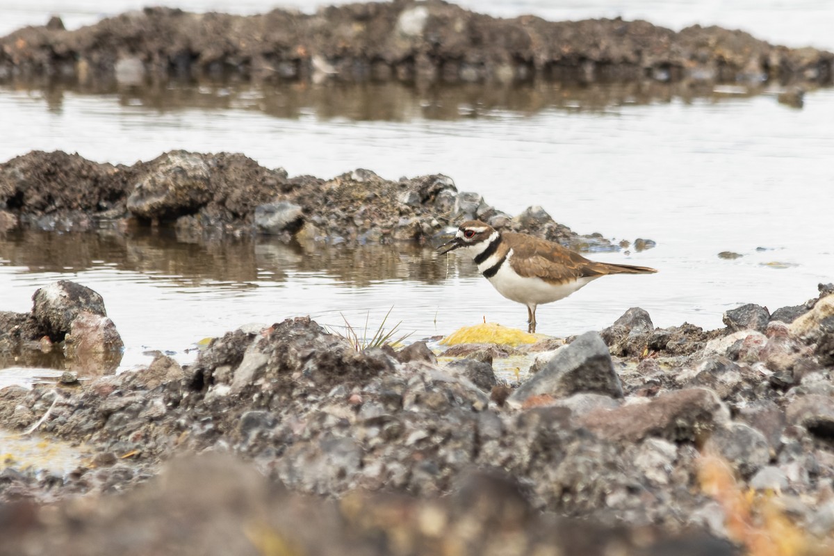
[[[146,8],[76,31],[57,18],[0,39],[0,79],[148,83],[519,83],[553,79],[831,83],[834,55],[747,33],[644,21],[491,18],[438,1],[356,3],[314,15]]]

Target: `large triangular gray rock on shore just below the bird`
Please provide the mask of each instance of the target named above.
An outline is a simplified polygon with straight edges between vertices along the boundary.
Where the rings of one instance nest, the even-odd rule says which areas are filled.
[[[614,370],[608,347],[599,333],[587,332],[558,350],[550,362],[507,400],[520,407],[527,398],[548,394],[564,398],[577,392],[605,393],[623,397],[620,377]]]

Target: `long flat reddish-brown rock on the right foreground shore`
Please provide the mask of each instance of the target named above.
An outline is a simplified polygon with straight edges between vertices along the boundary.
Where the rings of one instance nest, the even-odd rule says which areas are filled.
[[[636,442],[651,436],[693,440],[726,422],[726,408],[711,390],[688,388],[661,394],[648,403],[589,413],[580,423],[601,438]]]

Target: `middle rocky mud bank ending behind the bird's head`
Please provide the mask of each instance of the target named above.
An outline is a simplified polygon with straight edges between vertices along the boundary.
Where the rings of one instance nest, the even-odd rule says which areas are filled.
[[[391,181],[356,169],[289,177],[239,153],[172,151],[133,166],[33,151],[0,163],[0,230],[171,227],[193,238],[266,234],[328,243],[426,242],[463,220],[524,230],[572,248],[619,249],[580,236],[540,207],[511,217],[442,174]]]

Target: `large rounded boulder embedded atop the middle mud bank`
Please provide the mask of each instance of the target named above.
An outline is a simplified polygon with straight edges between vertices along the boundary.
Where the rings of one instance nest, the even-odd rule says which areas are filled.
[[[197,213],[212,198],[211,170],[203,156],[185,151],[163,154],[128,196],[139,218],[177,218]]]

